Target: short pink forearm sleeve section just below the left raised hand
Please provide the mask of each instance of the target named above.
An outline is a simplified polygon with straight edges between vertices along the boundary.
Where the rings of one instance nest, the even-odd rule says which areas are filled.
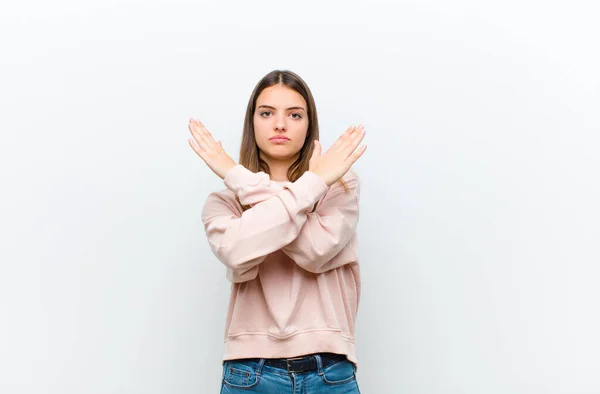
[[[223,181],[238,196],[242,205],[254,206],[283,190],[283,185],[272,182],[269,174],[252,172],[241,164],[229,170]]]

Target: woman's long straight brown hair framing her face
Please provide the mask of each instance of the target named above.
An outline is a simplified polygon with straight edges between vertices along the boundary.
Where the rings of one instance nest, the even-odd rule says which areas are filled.
[[[300,149],[298,159],[290,165],[287,171],[287,176],[290,182],[295,182],[309,169],[310,158],[314,150],[314,141],[319,139],[319,120],[317,117],[317,107],[313,99],[312,93],[308,85],[300,76],[289,70],[274,70],[265,75],[254,87],[248,106],[246,108],[246,117],[244,118],[244,131],[242,134],[242,143],[240,146],[239,164],[243,165],[252,172],[265,172],[271,174],[269,165],[260,157],[258,144],[254,135],[254,111],[256,110],[256,100],[260,93],[271,86],[283,85],[298,92],[306,101],[308,108],[308,131],[304,145]],[[344,189],[348,191],[348,186],[340,178],[338,181]],[[239,199],[238,199],[239,202]],[[316,206],[316,204],[315,204]],[[243,206],[243,209],[248,209],[248,206]]]

